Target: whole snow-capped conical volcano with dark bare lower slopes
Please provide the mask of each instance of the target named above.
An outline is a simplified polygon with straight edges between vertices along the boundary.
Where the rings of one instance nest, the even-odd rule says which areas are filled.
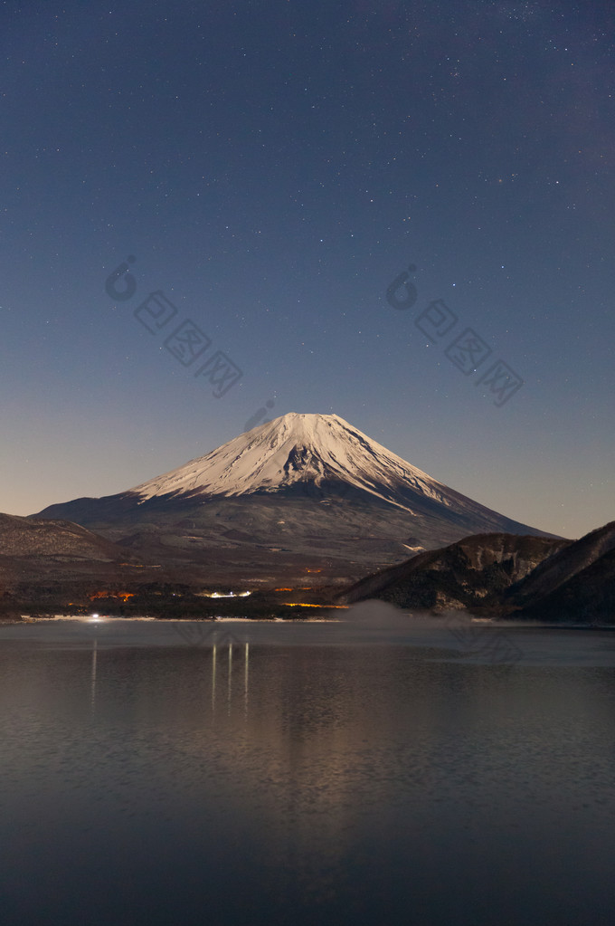
[[[471,533],[551,536],[437,482],[338,415],[289,413],[178,469],[37,517],[164,566],[347,580]]]

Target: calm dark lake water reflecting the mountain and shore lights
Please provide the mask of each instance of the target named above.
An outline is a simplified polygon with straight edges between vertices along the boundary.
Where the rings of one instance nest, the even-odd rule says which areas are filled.
[[[611,923],[615,633],[355,613],[0,627],[3,923]]]

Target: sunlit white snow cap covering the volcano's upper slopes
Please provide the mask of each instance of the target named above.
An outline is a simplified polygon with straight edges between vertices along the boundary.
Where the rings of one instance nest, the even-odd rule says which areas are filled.
[[[449,506],[450,490],[338,415],[290,412],[130,490],[169,495],[277,492],[298,482],[346,482],[412,511],[408,490]],[[400,494],[400,492],[402,494]]]

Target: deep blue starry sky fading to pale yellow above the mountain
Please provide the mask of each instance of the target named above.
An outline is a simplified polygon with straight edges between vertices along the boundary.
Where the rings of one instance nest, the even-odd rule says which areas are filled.
[[[615,6],[0,4],[0,511],[335,412],[615,519]]]

